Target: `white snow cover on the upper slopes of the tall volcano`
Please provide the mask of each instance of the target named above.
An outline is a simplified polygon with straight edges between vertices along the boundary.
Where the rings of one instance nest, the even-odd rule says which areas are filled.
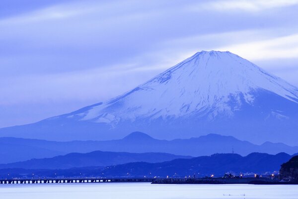
[[[230,52],[202,51],[134,90],[76,115],[81,120],[111,125],[138,117],[230,117],[241,107],[240,94],[246,103],[253,104],[252,92],[259,89],[298,102],[296,87],[253,63]],[[231,96],[237,100],[236,107],[227,103]],[[275,111],[277,117],[286,117]]]

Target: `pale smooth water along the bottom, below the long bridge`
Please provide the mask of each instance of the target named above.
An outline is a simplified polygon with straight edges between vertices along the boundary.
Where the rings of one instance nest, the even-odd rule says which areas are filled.
[[[0,185],[0,199],[298,199],[298,185]]]

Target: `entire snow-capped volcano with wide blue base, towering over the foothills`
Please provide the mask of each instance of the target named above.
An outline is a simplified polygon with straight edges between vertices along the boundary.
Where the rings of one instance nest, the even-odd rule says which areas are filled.
[[[298,88],[230,52],[202,51],[105,102],[0,136],[105,140],[142,131],[159,139],[231,135],[298,145]]]

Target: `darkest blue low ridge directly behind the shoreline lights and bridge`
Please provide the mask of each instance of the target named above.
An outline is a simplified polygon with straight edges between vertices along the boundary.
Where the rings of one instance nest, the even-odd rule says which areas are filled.
[[[102,153],[102,152],[101,152]],[[105,152],[103,152],[105,153]],[[115,153],[116,154],[116,153]],[[144,154],[140,154],[143,156]],[[128,157],[126,154],[122,157]],[[134,156],[134,155],[132,155]],[[113,156],[110,162],[113,162]],[[191,159],[174,159],[160,163],[134,162],[116,166],[90,166],[68,169],[0,169],[0,178],[43,178],[43,177],[125,177],[125,178],[153,178],[157,177],[185,177],[196,174],[198,177],[223,176],[224,173],[263,174],[279,171],[281,165],[291,159],[291,155],[279,153],[269,155],[265,153],[251,153],[245,157],[238,154],[214,154]],[[131,157],[130,157],[131,158]],[[82,159],[80,159],[82,160]],[[80,160],[73,163],[83,165]],[[61,160],[60,160],[61,161]],[[93,159],[94,161],[94,159]],[[94,162],[97,164],[100,160]],[[117,162],[118,160],[116,160]],[[27,162],[30,163],[30,162]],[[34,163],[31,162],[31,163]],[[42,162],[38,162],[40,165]],[[48,164],[49,161],[45,161]],[[65,165],[65,159],[61,161]],[[26,163],[25,163],[26,164]],[[37,164],[37,166],[38,166]],[[51,163],[50,163],[51,164]],[[52,165],[56,163],[53,162]],[[28,167],[30,167],[27,164]],[[42,166],[42,165],[40,165]],[[50,166],[51,167],[51,166]],[[9,174],[9,175],[8,175]],[[32,175],[34,174],[34,176]]]

